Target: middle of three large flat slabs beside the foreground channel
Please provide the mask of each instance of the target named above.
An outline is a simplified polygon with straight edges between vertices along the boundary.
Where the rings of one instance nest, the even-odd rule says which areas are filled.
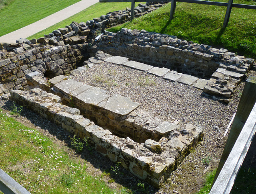
[[[78,100],[81,100],[86,104],[92,105],[97,105],[108,97],[110,97],[110,95],[106,94],[105,90],[96,87],[91,87],[88,90],[76,96]]]

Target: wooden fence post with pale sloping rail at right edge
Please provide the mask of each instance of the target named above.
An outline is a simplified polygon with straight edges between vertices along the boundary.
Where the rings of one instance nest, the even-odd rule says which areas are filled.
[[[246,80],[209,194],[229,194],[256,132],[256,77]]]

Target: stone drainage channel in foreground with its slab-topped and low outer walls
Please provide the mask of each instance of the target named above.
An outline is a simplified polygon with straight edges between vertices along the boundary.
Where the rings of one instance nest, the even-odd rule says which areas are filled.
[[[63,104],[78,108],[88,119],[62,113],[63,108],[55,112],[56,108],[52,110],[52,107],[57,105],[43,103],[40,98],[41,110],[49,110],[46,113],[48,117],[49,114],[57,115],[50,118],[57,118],[55,122],[64,129],[80,137],[88,137],[91,145],[102,155],[121,162],[125,169],[153,186],[159,187],[164,183],[172,170],[202,139],[201,127],[156,118],[128,97],[106,94],[100,88],[68,79],[67,76],[56,76],[46,81],[38,75],[32,73],[27,76],[30,87],[58,94]],[[44,93],[41,97],[47,95],[50,94]],[[148,120],[154,122],[148,123]],[[105,129],[92,125],[90,121]]]

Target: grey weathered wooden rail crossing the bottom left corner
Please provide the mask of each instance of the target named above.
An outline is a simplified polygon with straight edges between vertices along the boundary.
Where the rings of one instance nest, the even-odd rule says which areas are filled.
[[[0,190],[4,194],[30,194],[2,169],[0,169]]]

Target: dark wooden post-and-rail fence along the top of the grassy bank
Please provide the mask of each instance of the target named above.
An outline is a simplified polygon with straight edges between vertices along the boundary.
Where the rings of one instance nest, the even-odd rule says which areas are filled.
[[[100,0],[100,3],[111,3],[111,2],[131,2],[131,21],[134,19],[134,7],[135,2],[145,2],[145,0]],[[213,6],[224,6],[227,7],[224,22],[222,27],[227,27],[228,21],[230,18],[231,8],[244,8],[244,9],[253,9],[256,10],[256,6],[254,5],[246,5],[246,4],[233,4],[233,0],[229,0],[228,3],[224,2],[214,2],[214,1],[203,1],[203,0],[148,0],[147,2],[172,2],[171,10],[170,10],[170,20],[173,19],[175,10],[176,10],[176,2],[185,2],[185,3],[196,3],[196,4],[205,4],[205,5],[213,5]]]

